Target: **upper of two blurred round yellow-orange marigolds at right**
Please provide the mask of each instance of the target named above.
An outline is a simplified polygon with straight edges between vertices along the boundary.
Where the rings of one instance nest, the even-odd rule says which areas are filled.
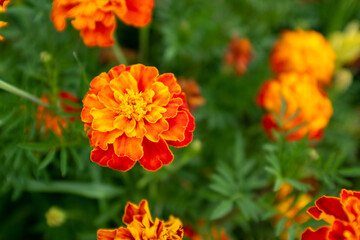
[[[333,48],[315,31],[284,31],[271,54],[271,66],[275,73],[308,73],[322,84],[330,83],[334,65]]]

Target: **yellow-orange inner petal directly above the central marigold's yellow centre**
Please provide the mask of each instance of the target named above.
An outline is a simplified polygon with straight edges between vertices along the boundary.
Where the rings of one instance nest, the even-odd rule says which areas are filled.
[[[115,92],[115,96],[118,93],[124,95],[127,90],[138,91],[137,82],[129,72],[122,72],[120,76],[111,80],[110,88]]]

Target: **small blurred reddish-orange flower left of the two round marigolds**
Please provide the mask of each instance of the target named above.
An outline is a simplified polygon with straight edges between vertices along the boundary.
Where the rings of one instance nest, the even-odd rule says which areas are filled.
[[[242,75],[247,71],[251,58],[252,46],[249,39],[233,37],[225,54],[225,63],[234,65],[236,74]]]

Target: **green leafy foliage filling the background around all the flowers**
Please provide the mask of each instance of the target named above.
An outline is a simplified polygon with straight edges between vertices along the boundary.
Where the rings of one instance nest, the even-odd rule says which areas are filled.
[[[263,112],[255,103],[262,82],[274,77],[269,56],[282,30],[315,29],[327,36],[360,18],[359,1],[155,2],[147,29],[118,21],[119,44],[160,73],[193,78],[206,99],[194,112],[193,142],[172,148],[174,161],[157,172],[137,164],[123,173],[91,162],[79,112],[64,113],[60,106],[59,91],[81,100],[90,80],[113,67],[114,60],[102,61],[103,49],[86,47],[70,21],[65,31],[57,32],[49,17],[51,1],[12,0],[0,14],[9,22],[0,30],[6,38],[0,42],[0,79],[37,98],[49,96],[57,116],[75,117],[59,137],[40,127],[37,104],[0,90],[0,214],[5,216],[0,240],[95,239],[97,229],[122,226],[126,203],[141,199],[149,201],[154,218],[171,214],[195,231],[204,219],[203,230],[224,228],[230,239],[279,239],[284,232],[297,239],[309,224],[322,223],[292,221],[287,227],[293,219],[279,215],[277,199],[284,183],[293,187],[290,207],[305,193],[315,200],[322,194],[338,196],[341,188],[359,189],[358,67],[352,66],[349,89],[325,89],[334,114],[321,141],[287,141],[302,125],[274,132],[275,139],[269,140],[260,124]],[[224,66],[224,53],[236,34],[249,38],[253,46],[242,76]],[[82,107],[81,101],[66,104]],[[279,124],[286,107],[283,101]],[[47,225],[45,213],[52,206],[64,210],[63,225]]]

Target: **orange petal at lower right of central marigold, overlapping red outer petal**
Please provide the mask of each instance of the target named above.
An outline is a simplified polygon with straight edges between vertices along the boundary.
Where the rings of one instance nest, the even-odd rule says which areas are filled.
[[[168,118],[169,130],[161,133],[165,140],[179,141],[185,140],[185,130],[189,124],[189,117],[186,112],[179,111],[176,117]]]

